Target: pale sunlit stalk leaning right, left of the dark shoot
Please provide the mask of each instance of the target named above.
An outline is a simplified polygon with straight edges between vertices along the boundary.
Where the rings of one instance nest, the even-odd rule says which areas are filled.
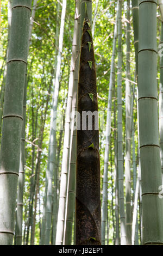
[[[78,5],[77,5],[78,4]],[[69,157],[70,157],[70,122],[71,122],[71,109],[72,109],[72,97],[73,97],[73,79],[74,79],[74,70],[76,69],[76,47],[78,40],[78,9],[79,2],[76,2],[76,14],[74,19],[74,35],[72,42],[72,57],[70,64],[70,78],[68,83],[68,96],[67,96],[67,106],[66,106],[66,116],[65,116],[65,133],[64,133],[64,147],[62,153],[62,167],[61,167],[61,178],[60,178],[60,197],[59,197],[59,210],[58,210],[58,222],[57,222],[57,234],[58,241],[64,242],[64,225],[65,222],[65,213],[66,213],[66,194],[67,194],[67,179],[68,179],[68,166],[69,166]],[[60,234],[60,235],[59,235]],[[57,241],[57,244],[58,244]]]

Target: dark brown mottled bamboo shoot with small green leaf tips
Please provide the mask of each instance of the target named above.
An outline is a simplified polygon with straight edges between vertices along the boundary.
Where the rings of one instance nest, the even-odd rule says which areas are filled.
[[[81,130],[77,130],[76,245],[101,245],[99,131],[95,130],[94,118],[93,129],[82,130],[83,111],[98,111],[93,41],[87,18],[83,24],[78,84]]]

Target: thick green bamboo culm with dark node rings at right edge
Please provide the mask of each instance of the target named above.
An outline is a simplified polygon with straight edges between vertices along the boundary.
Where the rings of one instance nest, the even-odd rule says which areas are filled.
[[[157,1],[139,4],[139,131],[142,175],[143,244],[163,245],[163,200],[156,86]]]

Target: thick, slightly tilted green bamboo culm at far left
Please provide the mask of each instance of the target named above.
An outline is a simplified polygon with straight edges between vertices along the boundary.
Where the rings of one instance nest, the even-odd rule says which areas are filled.
[[[12,1],[0,154],[0,245],[12,245],[14,236],[31,3]]]

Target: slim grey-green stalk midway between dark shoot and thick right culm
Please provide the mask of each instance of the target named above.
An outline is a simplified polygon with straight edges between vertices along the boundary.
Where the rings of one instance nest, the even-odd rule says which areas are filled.
[[[120,206],[121,245],[126,245],[126,217],[124,214],[123,191],[123,142],[122,142],[122,1],[118,1],[118,70],[117,70],[117,105],[118,105],[118,200]]]

